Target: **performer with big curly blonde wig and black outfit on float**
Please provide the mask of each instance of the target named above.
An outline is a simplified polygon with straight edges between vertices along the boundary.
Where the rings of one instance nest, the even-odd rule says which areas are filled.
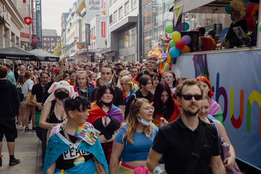
[[[243,17],[246,15],[244,5],[240,1],[231,1],[230,15],[231,18],[235,18],[235,21],[230,24],[225,41],[227,42],[229,40],[228,48],[240,47],[242,46],[242,43],[240,42],[240,39],[237,37],[233,28],[241,27],[245,34],[247,33],[247,22],[245,19],[243,19]],[[246,43],[246,41],[243,41],[243,44],[244,43]]]

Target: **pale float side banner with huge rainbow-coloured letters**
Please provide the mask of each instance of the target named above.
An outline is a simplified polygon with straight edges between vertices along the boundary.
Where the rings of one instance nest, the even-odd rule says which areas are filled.
[[[247,57],[247,59],[246,59]],[[260,50],[178,56],[176,78],[195,79],[207,66],[236,157],[261,169]],[[207,62],[204,62],[206,61]]]

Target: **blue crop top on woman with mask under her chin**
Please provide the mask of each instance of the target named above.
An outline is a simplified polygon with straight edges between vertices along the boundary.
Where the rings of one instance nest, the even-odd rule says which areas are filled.
[[[153,126],[153,128],[154,132],[150,134],[149,138],[147,138],[145,134],[138,134],[135,132],[132,135],[133,144],[128,142],[127,145],[126,137],[124,137],[122,142],[122,137],[124,134],[126,134],[127,131],[127,125],[124,125],[120,128],[119,132],[114,137],[114,141],[125,145],[121,153],[122,162],[147,160],[149,149],[152,146],[155,135],[159,130],[157,126]]]

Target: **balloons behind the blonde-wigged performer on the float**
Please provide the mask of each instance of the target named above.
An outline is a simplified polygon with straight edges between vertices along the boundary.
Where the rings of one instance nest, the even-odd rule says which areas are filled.
[[[237,1],[241,2],[246,8],[245,9],[246,15],[243,17],[243,19],[245,19],[247,22],[247,28],[254,30],[256,24],[253,23],[252,16],[255,14],[256,10],[259,10],[259,4],[248,2],[248,0],[237,0]],[[225,10],[228,14],[230,14],[230,4],[227,5]],[[231,17],[231,20],[235,21],[235,18]]]

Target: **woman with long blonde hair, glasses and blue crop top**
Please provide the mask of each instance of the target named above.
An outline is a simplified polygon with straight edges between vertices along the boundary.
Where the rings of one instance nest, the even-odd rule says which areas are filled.
[[[154,107],[150,106],[147,99],[139,98],[132,101],[130,113],[114,137],[109,167],[111,174],[134,174],[137,171],[148,173],[146,161],[159,130],[151,123],[153,112]],[[120,155],[122,161],[119,164]]]

